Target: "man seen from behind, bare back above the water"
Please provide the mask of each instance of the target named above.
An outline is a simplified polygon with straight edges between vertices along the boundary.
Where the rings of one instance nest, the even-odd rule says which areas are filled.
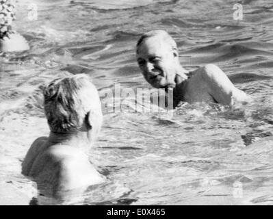
[[[49,83],[44,88],[44,112],[49,137],[31,145],[22,164],[23,175],[54,198],[102,183],[104,177],[88,159],[103,120],[99,94],[90,79],[75,75]]]

